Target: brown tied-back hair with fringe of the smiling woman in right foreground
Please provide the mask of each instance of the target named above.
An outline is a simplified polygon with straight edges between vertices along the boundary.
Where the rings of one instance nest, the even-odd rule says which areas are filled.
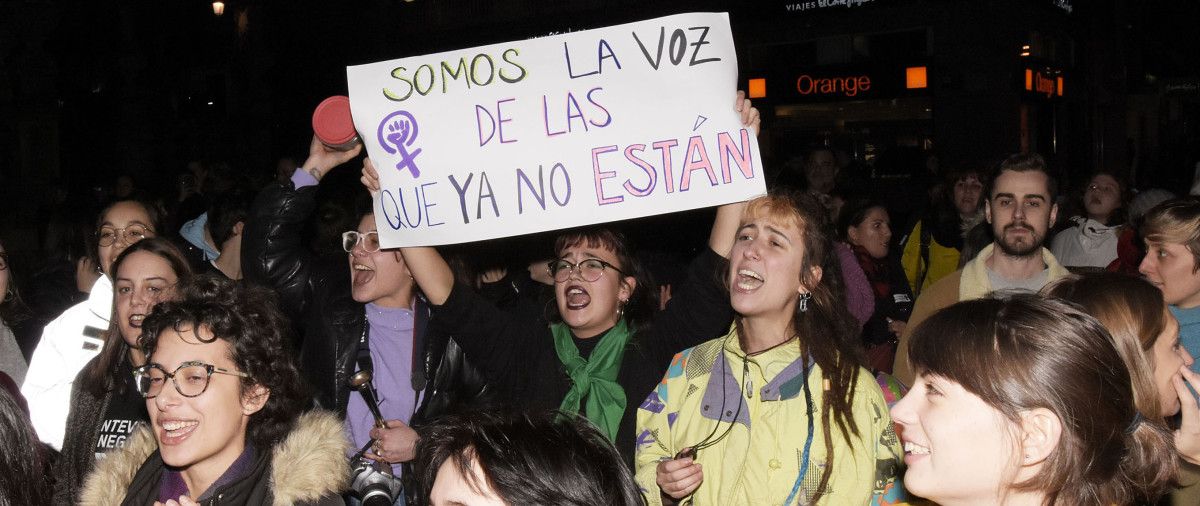
[[[1043,469],[1013,484],[1042,492],[1046,505],[1154,502],[1175,476],[1170,432],[1138,415],[1109,332],[1070,303],[1032,294],[955,303],[913,331],[908,361],[1013,423],[1032,409],[1058,417],[1062,435]]]

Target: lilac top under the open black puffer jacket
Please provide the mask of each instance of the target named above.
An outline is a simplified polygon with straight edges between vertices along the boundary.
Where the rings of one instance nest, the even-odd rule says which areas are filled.
[[[367,303],[367,326],[371,362],[374,367],[373,380],[379,411],[384,420],[400,420],[408,423],[416,410],[420,392],[413,390],[413,311]],[[366,400],[358,393],[350,393],[346,409],[346,428],[358,451],[371,440],[371,428],[374,416],[367,409]],[[400,476],[400,466],[392,466]]]

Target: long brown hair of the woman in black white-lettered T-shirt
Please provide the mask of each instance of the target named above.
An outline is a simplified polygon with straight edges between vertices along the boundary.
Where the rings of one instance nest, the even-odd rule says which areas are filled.
[[[192,276],[192,267],[184,258],[184,254],[179,252],[170,240],[163,237],[146,237],[138,242],[130,245],[125,248],[121,254],[116,255],[113,260],[113,272],[109,273],[114,279],[116,272],[120,271],[121,264],[125,259],[130,258],[131,254],[136,252],[146,252],[154,254],[170,265],[170,270],[175,272],[175,277],[179,282],[187,281]],[[113,283],[113,307],[112,313],[108,318],[108,330],[104,331],[104,348],[100,350],[100,355],[96,360],[88,362],[88,367],[83,373],[83,378],[88,381],[88,391],[90,391],[96,397],[103,397],[104,393],[113,391],[124,392],[126,387],[125,381],[116,381],[115,371],[120,366],[120,361],[124,356],[128,354],[130,345],[121,337],[121,326],[116,321],[116,283]]]

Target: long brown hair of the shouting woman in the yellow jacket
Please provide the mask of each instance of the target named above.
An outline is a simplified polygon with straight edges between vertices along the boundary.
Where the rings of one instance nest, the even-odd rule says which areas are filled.
[[[758,216],[791,223],[800,230],[804,241],[800,283],[812,294],[812,300],[808,311],[800,311],[797,305],[792,329],[799,336],[800,355],[812,359],[828,381],[821,402],[821,433],[828,462],[821,472],[817,495],[812,499],[816,502],[829,484],[834,468],[832,426],[838,426],[842,439],[851,447],[852,436],[859,434],[851,411],[854,384],[863,363],[862,349],[858,347],[858,325],[842,297],[841,267],[834,253],[832,234],[826,227],[824,206],[820,201],[806,193],[773,192],[750,200],[742,216],[743,223]],[[823,273],[820,281],[814,277],[812,267],[821,267]],[[740,323],[739,318],[739,333]]]

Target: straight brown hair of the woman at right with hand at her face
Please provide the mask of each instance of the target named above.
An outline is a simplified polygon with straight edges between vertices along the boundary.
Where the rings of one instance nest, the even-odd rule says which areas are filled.
[[[1094,272],[1056,279],[1042,294],[1079,305],[1104,324],[1129,367],[1138,410],[1147,418],[1162,420],[1151,350],[1166,327],[1163,291],[1144,278]]]

